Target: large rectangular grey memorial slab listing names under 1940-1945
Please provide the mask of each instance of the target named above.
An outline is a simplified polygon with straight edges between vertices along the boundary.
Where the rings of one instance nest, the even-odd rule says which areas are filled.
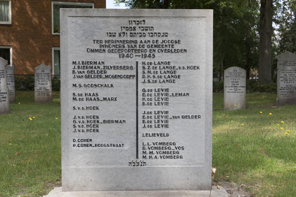
[[[213,11],[60,13],[63,191],[210,189]]]

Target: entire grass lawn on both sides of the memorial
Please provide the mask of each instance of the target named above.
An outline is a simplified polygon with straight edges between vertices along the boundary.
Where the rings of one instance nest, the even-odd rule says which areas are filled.
[[[224,111],[223,93],[213,93],[213,181],[244,184],[253,196],[296,196],[296,106],[274,107],[275,94],[246,100],[247,109]],[[51,104],[16,92],[10,114],[0,115],[1,197],[43,196],[61,185],[60,125],[59,92]]]

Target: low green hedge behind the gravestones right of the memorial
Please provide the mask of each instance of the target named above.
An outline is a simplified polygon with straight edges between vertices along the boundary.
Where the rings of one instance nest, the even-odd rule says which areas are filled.
[[[213,92],[223,92],[224,82],[213,81]],[[276,93],[277,85],[275,82],[269,84],[258,83],[256,79],[246,80],[247,92],[266,92],[266,93]]]

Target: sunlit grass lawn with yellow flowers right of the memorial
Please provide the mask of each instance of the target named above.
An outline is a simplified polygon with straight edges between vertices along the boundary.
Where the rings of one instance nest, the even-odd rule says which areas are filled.
[[[213,94],[216,182],[244,184],[253,196],[296,196],[296,106],[275,101],[276,94],[247,94],[247,109],[224,111],[223,93]]]

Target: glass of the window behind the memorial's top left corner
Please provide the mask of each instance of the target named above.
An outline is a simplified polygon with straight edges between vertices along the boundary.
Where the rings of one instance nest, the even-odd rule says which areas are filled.
[[[92,5],[67,5],[67,4],[54,4],[53,16],[54,16],[54,33],[59,33],[59,9],[60,8],[92,8]]]

